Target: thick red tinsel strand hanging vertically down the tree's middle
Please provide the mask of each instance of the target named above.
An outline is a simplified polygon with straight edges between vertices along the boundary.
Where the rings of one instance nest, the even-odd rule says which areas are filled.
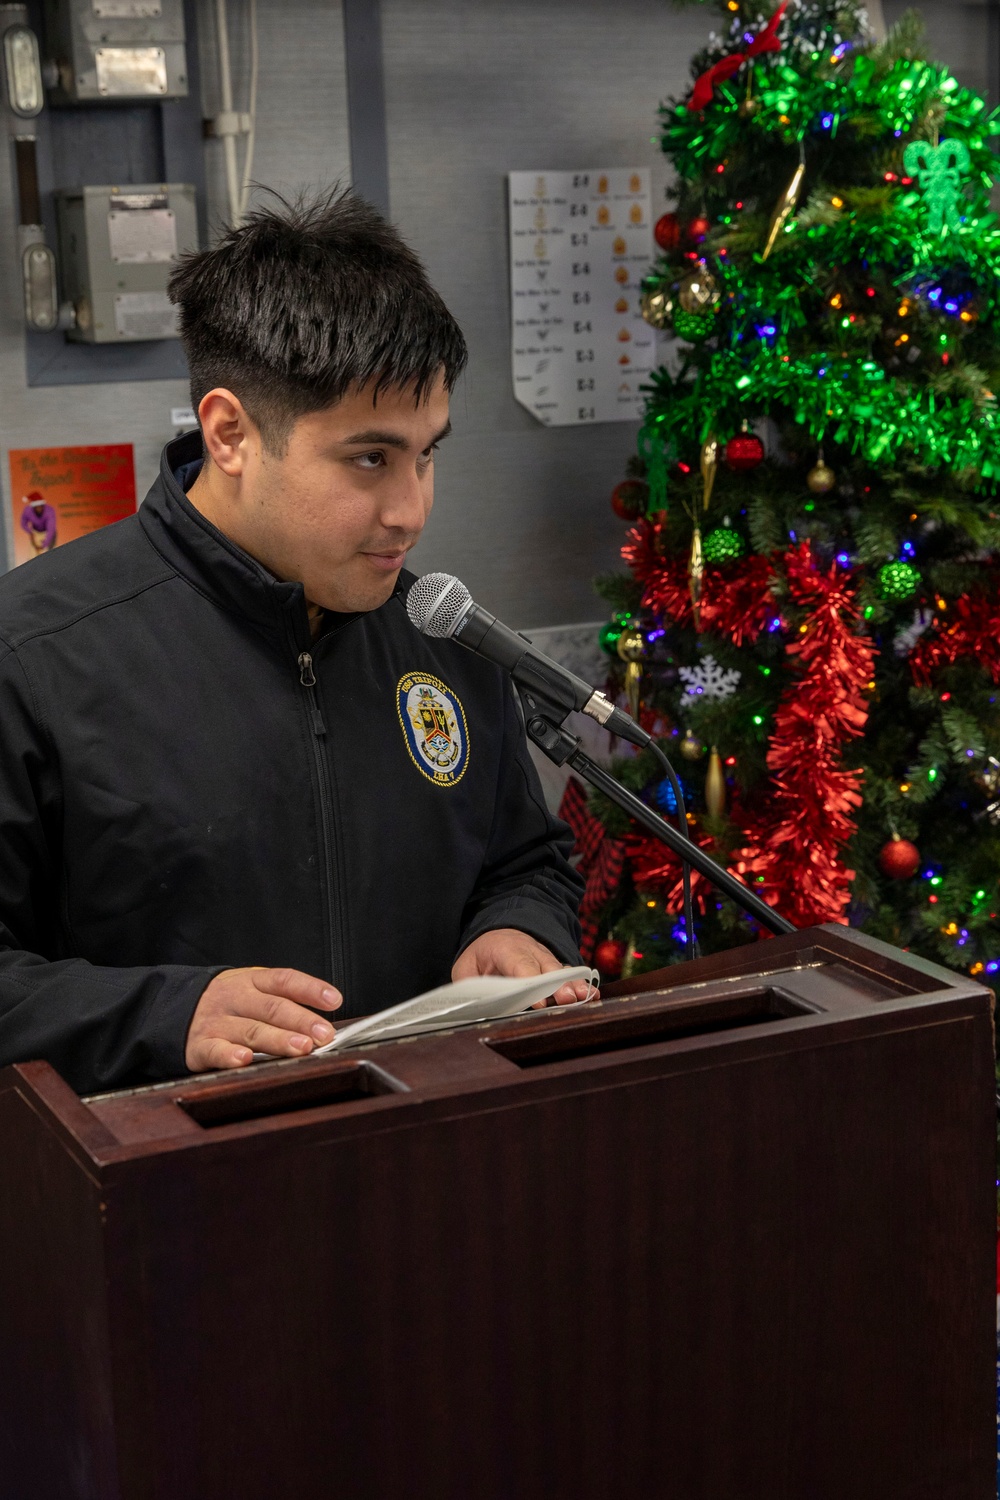
[[[862,690],[876,651],[856,633],[849,574],[835,566],[822,572],[808,542],[786,555],[784,567],[792,598],[811,610],[786,646],[802,675],[786,688],[775,714],[769,816],[751,830],[736,870],[798,927],[810,927],[846,921],[853,870],[840,855],[855,832],[861,772],[843,770],[841,748],[868,722]]]

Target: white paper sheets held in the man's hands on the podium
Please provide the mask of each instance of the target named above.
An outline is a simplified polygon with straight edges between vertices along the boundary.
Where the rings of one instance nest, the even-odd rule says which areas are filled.
[[[391,1041],[396,1036],[417,1036],[421,1032],[448,1030],[453,1026],[472,1026],[477,1022],[519,1016],[538,1000],[547,1000],[564,984],[573,984],[574,980],[586,980],[588,1000],[600,984],[597,969],[586,966],[552,969],[528,980],[481,975],[474,980],[459,980],[456,984],[442,984],[412,1000],[390,1005],[375,1016],[339,1026],[333,1041],[324,1047],[313,1047],[307,1056],[319,1058],[324,1052],[339,1052],[342,1047],[355,1047],[361,1042]],[[265,1059],[268,1053],[255,1052],[253,1056]]]

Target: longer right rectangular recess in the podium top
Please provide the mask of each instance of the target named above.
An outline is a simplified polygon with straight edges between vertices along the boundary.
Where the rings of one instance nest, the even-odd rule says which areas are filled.
[[[643,994],[642,999],[652,999]],[[741,994],[682,1002],[673,1008],[633,1012],[627,1004],[624,1014],[594,1016],[568,1022],[550,1030],[525,1030],[490,1038],[487,1046],[519,1068],[538,1068],[547,1062],[573,1062],[600,1053],[625,1052],[633,1047],[654,1047],[657,1042],[681,1041],[685,1036],[711,1036],[744,1026],[768,1026],[798,1016],[816,1016],[822,1006],[810,1005],[777,986],[754,986]]]

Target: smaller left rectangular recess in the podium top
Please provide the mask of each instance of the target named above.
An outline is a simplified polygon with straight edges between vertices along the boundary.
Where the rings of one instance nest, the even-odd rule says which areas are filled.
[[[241,1125],[271,1114],[315,1110],[324,1104],[354,1104],[379,1094],[408,1094],[409,1086],[372,1062],[339,1064],[328,1072],[303,1077],[234,1078],[175,1095],[174,1102],[205,1130]]]

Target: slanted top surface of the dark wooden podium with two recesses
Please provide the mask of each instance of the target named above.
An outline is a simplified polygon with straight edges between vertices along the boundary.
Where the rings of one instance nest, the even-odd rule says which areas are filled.
[[[13,1070],[90,1164],[163,1150],[205,1150],[240,1138],[316,1128],[348,1134],[375,1118],[447,1108],[493,1089],[547,1082],[588,1088],[609,1066],[664,1060],[690,1066],[726,1048],[796,1048],[817,1030],[850,1040],[906,1026],[915,1010],[984,1014],[991,992],[973,980],[840,926],[811,928],[609,984],[600,1002],[532,1011],[316,1059],[256,1064],[79,1100],[46,1064]],[[3,1072],[0,1072],[3,1080]]]

